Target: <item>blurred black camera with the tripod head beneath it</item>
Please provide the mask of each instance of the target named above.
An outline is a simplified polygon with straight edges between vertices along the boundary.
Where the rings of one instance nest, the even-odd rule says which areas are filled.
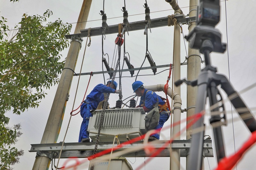
[[[221,33],[215,29],[220,22],[220,1],[200,0],[197,7],[197,26],[185,39],[190,42],[191,48],[204,51],[224,53],[226,44],[221,43]]]

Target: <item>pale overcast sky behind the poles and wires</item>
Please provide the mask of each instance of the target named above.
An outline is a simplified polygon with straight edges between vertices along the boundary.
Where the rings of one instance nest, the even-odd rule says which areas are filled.
[[[48,21],[55,21],[60,18],[63,23],[76,23],[82,0],[62,0],[62,1],[39,1],[39,0],[20,0],[20,2],[9,2],[6,0],[0,0],[0,16],[7,18],[7,25],[10,28],[14,28],[15,24],[20,22],[23,13],[28,15],[43,15],[43,13],[49,9],[53,12],[53,15],[48,19]],[[141,21],[145,19],[145,8],[143,7],[145,1],[130,0],[126,1],[126,10],[128,11],[129,22]],[[174,13],[171,5],[166,3],[164,0],[147,0],[148,6],[150,8],[150,17],[160,18],[166,17]],[[187,15],[189,13],[189,1],[183,0],[178,1],[180,8],[183,13]],[[104,10],[107,14],[107,24],[115,25],[123,22],[123,12],[122,7],[124,6],[124,1],[120,0],[106,0],[104,4]],[[255,72],[255,39],[256,33],[254,28],[256,23],[253,22],[254,16],[256,14],[256,0],[251,1],[239,1],[239,0],[228,0],[220,1],[221,6],[221,18],[220,23],[216,26],[217,29],[222,33],[222,42],[228,43],[228,50],[225,53],[211,53],[212,65],[216,66],[218,72],[226,75],[231,84],[240,92],[241,97],[251,109],[252,114],[256,115],[256,88],[253,86],[248,89],[250,85],[256,83]],[[92,2],[91,10],[89,13],[86,28],[100,27],[101,26],[101,16],[99,14],[100,10],[103,10],[103,1],[95,0]],[[131,15],[131,16],[130,16]],[[119,18],[116,18],[119,17]],[[110,19],[112,18],[112,19]],[[95,21],[96,20],[96,21]],[[74,33],[75,24],[71,34]],[[183,34],[188,35],[188,25],[183,25]],[[129,30],[128,30],[129,31]],[[130,55],[130,62],[135,67],[141,66],[146,51],[146,36],[143,34],[144,30],[129,32],[129,36],[126,35],[125,50]],[[91,37],[91,46],[86,48],[85,61],[82,68],[83,72],[91,71],[101,71],[101,36]],[[116,34],[106,35],[104,40],[104,53],[108,53],[109,60],[111,61],[114,54]],[[82,43],[82,48],[80,50],[78,61],[76,64],[75,72],[79,73],[81,68],[81,61],[83,58],[84,48],[86,39]],[[186,47],[186,48],[185,48]],[[187,56],[188,42],[183,39],[181,34],[181,62],[185,60]],[[172,52],[173,52],[173,27],[159,27],[152,28],[151,33],[148,33],[148,51],[150,52],[156,65],[164,65],[172,63]],[[61,52],[63,59],[67,56],[68,49]],[[123,49],[122,53],[123,54]],[[203,56],[202,56],[203,57]],[[204,59],[204,57],[203,57]],[[143,67],[150,66],[148,61],[145,61]],[[204,64],[201,64],[204,67]],[[124,69],[127,66],[124,65]],[[165,70],[168,68],[157,69],[157,72]],[[105,68],[104,68],[105,70]],[[137,72],[135,71],[135,75]],[[153,75],[152,70],[141,70],[137,80],[140,80],[144,85],[156,85],[165,84],[169,72],[168,70]],[[135,75],[131,77],[129,72],[124,72],[122,76],[122,91],[125,98],[133,95],[132,83],[135,81]],[[105,78],[108,75],[105,74]],[[187,77],[187,66],[181,66],[181,78]],[[83,99],[86,86],[89,81],[89,76],[82,76],[78,86],[78,95],[76,96],[75,108],[78,107]],[[63,141],[64,135],[66,133],[69,113],[72,110],[75,92],[77,86],[78,77],[74,77],[70,89],[70,97],[67,102],[66,112],[64,115],[62,128],[60,130],[60,135],[57,142]],[[107,80],[106,80],[107,81]],[[116,79],[119,82],[118,79]],[[93,75],[91,78],[88,92],[93,89],[93,87],[99,83],[104,84],[104,79],[102,74]],[[171,81],[169,83],[171,86]],[[30,144],[39,144],[42,139],[44,128],[52,107],[52,101],[57,89],[57,85],[52,86],[51,89],[45,90],[48,95],[43,99],[38,108],[30,108],[28,111],[21,113],[21,115],[13,115],[11,112],[7,113],[6,116],[10,117],[9,126],[21,123],[21,132],[23,135],[20,137],[19,142],[15,145],[18,149],[23,149],[25,151],[24,156],[20,158],[20,164],[13,166],[17,170],[32,169],[35,161],[35,152],[28,152],[31,146]],[[244,90],[245,89],[245,90]],[[163,92],[158,92],[159,95],[164,96]],[[227,97],[223,94],[223,98]],[[185,84],[181,85],[181,99],[182,99],[182,109],[187,107],[187,86]],[[115,106],[118,96],[115,94],[110,95],[110,106]],[[227,110],[227,126],[223,126],[223,137],[225,142],[226,155],[232,155],[242,146],[242,144],[250,137],[249,130],[244,126],[244,123],[237,116],[236,111],[231,108],[229,101],[225,100],[225,107]],[[186,118],[186,113],[182,113],[181,119]],[[233,119],[233,121],[232,121]],[[77,142],[80,124],[82,122],[81,116],[78,114],[72,116],[71,123],[68,127],[67,137],[65,142]],[[169,119],[164,127],[170,126],[171,120]],[[205,135],[210,135],[212,137],[212,129],[209,125],[209,113],[205,115],[204,122],[206,124]],[[183,128],[185,124],[181,124]],[[169,129],[169,128],[167,128]],[[161,131],[160,140],[167,140],[170,138],[170,130]],[[181,134],[181,139],[186,139],[186,134]],[[243,157],[243,159],[237,164],[238,170],[252,169],[256,166],[255,162],[255,151],[256,147],[253,146]],[[215,154],[215,151],[214,151]],[[136,169],[141,163],[144,162],[144,158],[128,158],[131,161],[133,169]],[[181,169],[186,167],[186,159],[181,158]],[[163,162],[162,164],[157,164],[156,162]],[[152,159],[143,169],[169,169],[169,158],[155,158]],[[60,161],[60,166],[63,164],[64,160]],[[216,158],[205,158],[204,159],[205,170],[214,169],[217,166]],[[84,166],[86,169],[88,165]],[[167,168],[168,167],[168,168]]]

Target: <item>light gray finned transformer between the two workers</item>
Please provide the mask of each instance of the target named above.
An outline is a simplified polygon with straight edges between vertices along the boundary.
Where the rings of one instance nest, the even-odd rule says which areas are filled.
[[[89,120],[89,137],[93,142],[98,134],[101,111],[95,110]],[[100,142],[113,142],[115,136],[120,142],[140,137],[147,132],[145,116],[143,108],[106,109],[100,129]]]

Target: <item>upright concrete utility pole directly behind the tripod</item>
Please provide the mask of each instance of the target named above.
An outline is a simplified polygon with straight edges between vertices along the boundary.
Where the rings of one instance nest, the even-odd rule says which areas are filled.
[[[189,17],[194,17],[197,15],[197,1],[198,0],[190,0],[189,1]],[[196,22],[191,22],[188,25],[188,32],[190,33],[196,27]],[[189,43],[188,43],[189,46]],[[201,54],[198,49],[192,49],[188,47],[188,81],[195,80],[198,78],[198,75],[201,72]],[[187,117],[190,117],[196,112],[196,96],[197,95],[197,87],[192,87],[191,85],[187,85]],[[188,125],[189,121],[187,121]],[[187,128],[187,139],[191,138],[189,132],[192,130],[192,127]],[[187,160],[188,157],[187,156]],[[204,161],[203,161],[204,162]],[[188,169],[188,161],[187,161],[187,169]],[[204,166],[202,166],[204,167]]]

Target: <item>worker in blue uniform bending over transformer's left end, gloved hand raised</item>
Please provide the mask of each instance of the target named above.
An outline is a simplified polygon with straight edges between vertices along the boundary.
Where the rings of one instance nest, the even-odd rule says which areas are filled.
[[[118,93],[119,99],[122,99],[122,91],[116,90],[117,83],[112,80],[108,81],[106,85],[96,85],[90,94],[87,95],[86,100],[80,107],[80,115],[83,117],[81,124],[78,142],[90,142],[88,124],[89,117],[92,117],[90,110],[94,110],[98,107],[99,103],[104,100],[104,93]]]

